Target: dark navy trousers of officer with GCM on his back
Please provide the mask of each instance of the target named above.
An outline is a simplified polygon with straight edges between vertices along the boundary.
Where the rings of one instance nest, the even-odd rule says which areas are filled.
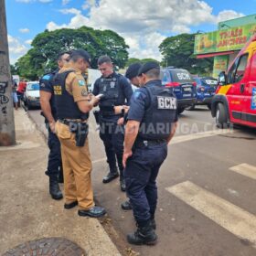
[[[133,216],[139,225],[155,218],[157,204],[156,177],[167,156],[167,145],[134,147],[124,170],[126,194],[133,206]]]

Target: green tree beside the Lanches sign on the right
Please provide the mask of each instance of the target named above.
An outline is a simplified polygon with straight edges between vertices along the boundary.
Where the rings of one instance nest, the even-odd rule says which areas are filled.
[[[160,44],[159,50],[164,59],[162,66],[174,66],[187,69],[191,73],[208,74],[212,70],[213,59],[197,59],[194,55],[196,34],[180,34],[167,37]]]

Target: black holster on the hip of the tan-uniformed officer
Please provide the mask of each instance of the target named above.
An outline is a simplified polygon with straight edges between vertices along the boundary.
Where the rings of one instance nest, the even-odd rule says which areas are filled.
[[[84,146],[89,133],[89,125],[87,123],[69,122],[69,131],[76,134],[76,146]]]

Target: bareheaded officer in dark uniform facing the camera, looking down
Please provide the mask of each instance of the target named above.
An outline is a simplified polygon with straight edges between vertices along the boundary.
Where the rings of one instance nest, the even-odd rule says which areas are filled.
[[[108,56],[98,59],[98,68],[101,70],[101,78],[95,81],[92,93],[103,94],[99,103],[100,107],[100,137],[103,141],[107,162],[110,172],[102,180],[108,183],[119,176],[117,164],[120,171],[120,186],[125,191],[123,180],[123,125],[118,125],[121,114],[115,114],[113,107],[129,104],[133,94],[132,86],[122,75],[113,71],[112,60]]]

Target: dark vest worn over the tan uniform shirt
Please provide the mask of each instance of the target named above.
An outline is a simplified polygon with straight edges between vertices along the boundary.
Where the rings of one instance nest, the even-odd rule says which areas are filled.
[[[54,96],[56,101],[57,116],[59,119],[82,119],[86,120],[89,113],[80,112],[77,103],[74,101],[72,95],[66,90],[66,78],[70,72],[68,70],[63,73],[58,73],[54,77]]]

